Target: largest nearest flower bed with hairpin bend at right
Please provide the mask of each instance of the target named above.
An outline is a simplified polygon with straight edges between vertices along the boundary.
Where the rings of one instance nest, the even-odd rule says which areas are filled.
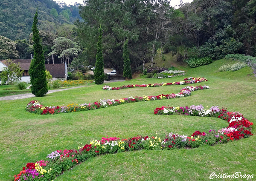
[[[155,114],[179,114],[191,116],[208,116],[221,118],[229,123],[227,128],[218,131],[210,129],[209,132],[195,131],[191,136],[169,133],[165,138],[152,136],[136,136],[120,139],[108,136],[101,140],[93,140],[78,149],[56,150],[47,155],[46,160],[27,163],[19,174],[15,175],[15,181],[22,180],[53,180],[65,170],[76,166],[88,158],[106,153],[134,151],[138,149],[178,149],[186,147],[200,147],[203,145],[224,144],[229,141],[248,138],[251,133],[251,123],[239,112],[228,112],[227,109],[219,109],[212,106],[204,109],[199,106],[161,107],[156,108]]]

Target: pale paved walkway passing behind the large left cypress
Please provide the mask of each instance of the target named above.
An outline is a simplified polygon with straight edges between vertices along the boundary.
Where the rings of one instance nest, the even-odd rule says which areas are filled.
[[[77,88],[80,88],[80,87],[84,87],[84,86],[70,87],[70,88],[66,88],[66,89],[49,90],[47,92],[47,94],[50,94],[52,92],[69,90],[69,89],[77,89]],[[11,100],[16,100],[16,99],[26,99],[26,98],[33,98],[33,97],[36,97],[36,96],[33,95],[32,93],[19,94],[19,95],[9,95],[9,96],[5,96],[5,97],[0,97],[0,101],[11,101]]]

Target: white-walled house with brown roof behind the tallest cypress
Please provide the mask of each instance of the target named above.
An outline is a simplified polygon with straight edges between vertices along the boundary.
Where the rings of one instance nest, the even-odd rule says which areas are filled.
[[[21,81],[29,82],[30,76],[29,76],[29,66],[31,63],[31,59],[17,59],[12,60],[14,63],[20,63],[21,69],[24,70],[23,76],[21,78]],[[3,67],[7,67],[6,60],[0,60],[0,72],[2,71]],[[45,69],[50,72],[52,75],[52,80],[57,79],[67,79],[67,64],[45,64]],[[1,82],[0,82],[1,83]]]

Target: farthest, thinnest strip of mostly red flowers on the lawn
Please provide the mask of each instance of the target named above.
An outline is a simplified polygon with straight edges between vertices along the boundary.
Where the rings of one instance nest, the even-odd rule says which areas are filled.
[[[126,85],[126,86],[121,86],[121,87],[110,87],[110,86],[103,86],[103,90],[119,90],[119,89],[128,89],[128,88],[133,88],[133,87],[159,87],[159,86],[171,86],[171,85],[187,85],[187,84],[192,84],[192,83],[199,83],[199,82],[206,82],[208,81],[206,78],[185,78],[184,81],[180,82],[173,82],[173,83],[153,83],[153,84],[131,84],[131,85]]]

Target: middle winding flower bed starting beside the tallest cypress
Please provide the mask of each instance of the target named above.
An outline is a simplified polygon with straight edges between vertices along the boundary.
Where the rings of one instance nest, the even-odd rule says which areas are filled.
[[[67,112],[78,112],[78,111],[87,111],[91,109],[99,109],[108,106],[117,106],[124,103],[133,103],[133,102],[140,102],[140,101],[154,101],[154,100],[161,100],[161,99],[170,99],[170,98],[181,98],[190,96],[192,91],[202,90],[202,89],[209,89],[209,86],[187,86],[180,90],[178,94],[167,94],[167,95],[151,95],[147,96],[144,95],[143,97],[129,97],[129,98],[122,98],[122,99],[108,99],[108,100],[100,100],[94,103],[84,103],[84,104],[69,104],[67,106],[53,106],[47,107],[43,106],[39,101],[30,101],[27,106],[26,110],[28,112],[36,113],[36,114],[60,114],[60,113],[67,113]]]

